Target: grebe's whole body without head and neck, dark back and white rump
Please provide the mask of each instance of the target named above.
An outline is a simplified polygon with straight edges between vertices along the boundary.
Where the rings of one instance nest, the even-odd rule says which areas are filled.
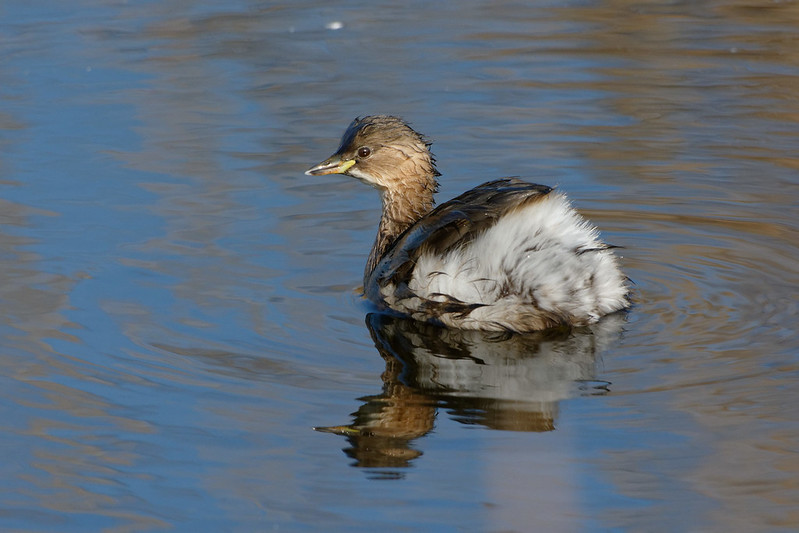
[[[408,228],[367,275],[378,303],[468,329],[584,325],[628,305],[610,247],[566,197],[506,178]]]

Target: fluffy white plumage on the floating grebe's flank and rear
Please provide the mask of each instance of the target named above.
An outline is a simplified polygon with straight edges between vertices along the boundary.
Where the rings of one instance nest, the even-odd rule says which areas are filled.
[[[443,314],[448,326],[467,329],[542,329],[586,325],[627,306],[625,277],[615,255],[562,194],[550,193],[501,217],[468,245],[443,255],[422,253],[408,288],[389,307],[429,318],[426,301],[480,304],[468,315]]]

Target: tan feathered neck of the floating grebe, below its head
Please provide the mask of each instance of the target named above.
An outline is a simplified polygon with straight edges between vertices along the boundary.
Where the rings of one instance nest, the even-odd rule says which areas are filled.
[[[405,188],[401,191],[384,189],[381,191],[383,201],[383,215],[380,217],[380,226],[377,228],[377,237],[369,254],[364,272],[364,283],[377,266],[377,263],[386,253],[391,244],[411,227],[417,220],[428,214],[435,205],[433,193],[436,190],[434,177],[429,184],[414,189]],[[365,286],[365,285],[364,285]]]

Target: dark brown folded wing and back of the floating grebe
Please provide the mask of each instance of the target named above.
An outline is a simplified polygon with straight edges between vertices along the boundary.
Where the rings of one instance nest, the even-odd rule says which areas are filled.
[[[393,284],[401,296],[407,289],[418,258],[426,252],[443,255],[471,242],[496,221],[552,191],[546,185],[502,178],[483,183],[443,203],[400,235],[386,250],[369,276],[365,290],[372,300],[376,292]],[[375,292],[375,294],[373,294]],[[462,302],[451,302],[452,304]]]

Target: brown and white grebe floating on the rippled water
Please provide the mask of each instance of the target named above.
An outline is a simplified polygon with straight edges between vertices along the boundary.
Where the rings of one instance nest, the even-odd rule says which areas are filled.
[[[587,326],[630,306],[615,246],[566,195],[494,179],[435,205],[432,143],[402,118],[355,118],[305,174],[344,174],[380,193],[363,278],[378,309],[440,326],[525,333]]]

